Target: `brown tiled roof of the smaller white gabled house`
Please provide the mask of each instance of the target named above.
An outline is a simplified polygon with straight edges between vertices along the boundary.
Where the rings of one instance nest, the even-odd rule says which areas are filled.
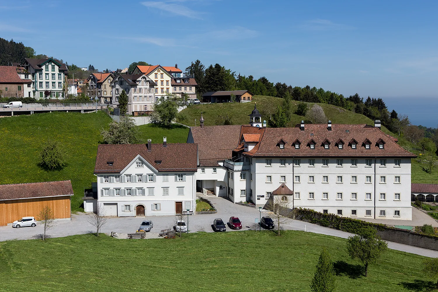
[[[148,151],[146,144],[101,144],[97,148],[94,173],[119,173],[137,155],[140,155],[150,165],[162,172],[196,172],[198,166],[198,144],[168,143],[152,144],[152,151]],[[107,162],[113,162],[110,166]]]

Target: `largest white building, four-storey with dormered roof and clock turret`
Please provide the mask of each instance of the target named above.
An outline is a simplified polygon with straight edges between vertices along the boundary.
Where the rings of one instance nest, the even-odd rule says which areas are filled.
[[[375,126],[309,124],[265,128],[254,107],[251,125],[191,127],[197,143],[197,189],[264,206],[283,183],[290,208],[360,218],[412,219],[411,158]],[[254,122],[257,120],[257,122]]]

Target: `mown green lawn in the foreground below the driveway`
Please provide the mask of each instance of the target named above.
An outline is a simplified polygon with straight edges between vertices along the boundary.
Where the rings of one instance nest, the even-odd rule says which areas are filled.
[[[428,291],[424,257],[388,250],[361,275],[346,239],[299,231],[193,233],[177,239],[69,236],[0,243],[0,291],[310,291],[321,247],[338,292]]]

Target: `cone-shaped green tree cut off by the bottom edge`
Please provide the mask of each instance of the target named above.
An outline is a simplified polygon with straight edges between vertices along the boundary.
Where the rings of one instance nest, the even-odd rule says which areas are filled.
[[[336,289],[336,273],[329,252],[325,247],[321,251],[315,275],[310,284],[313,292],[332,292]]]

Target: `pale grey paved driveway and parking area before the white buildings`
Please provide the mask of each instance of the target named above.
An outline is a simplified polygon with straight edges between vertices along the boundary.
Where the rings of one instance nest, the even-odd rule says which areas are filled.
[[[242,221],[244,228],[242,230],[249,230],[254,228],[254,219],[259,218],[260,212],[255,208],[250,208],[247,206],[241,206],[233,204],[227,199],[220,197],[208,197],[208,200],[212,201],[212,204],[218,210],[217,214],[211,215],[191,215],[189,216],[189,231],[203,231],[203,232],[213,232],[211,225],[215,218],[222,218],[224,221],[228,221],[231,216],[237,216]],[[261,216],[266,215],[261,214]],[[92,226],[88,223],[88,214],[78,213],[77,215],[72,215],[72,220],[57,220],[56,226],[49,230],[47,233],[52,237],[69,236],[76,234],[84,234],[89,232],[95,232]],[[187,216],[184,216],[187,218]],[[154,227],[151,232],[147,233],[147,238],[160,238],[158,233],[161,229],[171,228],[175,222],[175,216],[150,216],[154,223]],[[127,233],[135,232],[139,227],[143,218],[127,217],[127,218],[108,218],[106,224],[103,226],[101,232],[110,233],[111,231],[117,232],[120,238],[124,238]],[[301,230],[306,232],[314,232],[320,234],[326,234],[331,236],[337,236],[342,238],[347,238],[351,236],[351,233],[343,232],[336,229],[326,228],[319,225],[314,225],[311,223],[291,220],[289,223],[283,225],[284,229],[290,230]],[[11,239],[32,239],[38,238],[42,233],[42,226],[37,225],[37,227],[22,227],[20,229],[12,228],[9,226],[0,226],[0,241],[11,240]],[[231,229],[227,228],[227,232]],[[233,232],[236,232],[233,230]],[[438,257],[438,251],[425,250],[422,248],[407,246],[399,243],[388,243],[388,247],[393,250],[406,251],[408,253],[416,253],[426,257]]]

